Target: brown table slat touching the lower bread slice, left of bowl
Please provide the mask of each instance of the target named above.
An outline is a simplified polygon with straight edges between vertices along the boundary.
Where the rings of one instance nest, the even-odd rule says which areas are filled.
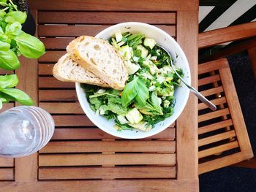
[[[62,82],[55,77],[39,77],[39,88],[75,88],[75,82]]]

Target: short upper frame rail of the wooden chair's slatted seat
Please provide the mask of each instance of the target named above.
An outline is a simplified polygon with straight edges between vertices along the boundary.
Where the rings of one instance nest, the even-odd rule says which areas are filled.
[[[216,71],[218,69],[222,69],[228,66],[227,59],[221,58],[215,61],[210,61],[204,64],[200,64],[198,66],[198,74],[204,74],[207,72]]]

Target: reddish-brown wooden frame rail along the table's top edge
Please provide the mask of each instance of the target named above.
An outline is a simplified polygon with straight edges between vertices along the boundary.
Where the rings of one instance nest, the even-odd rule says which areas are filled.
[[[195,4],[197,6],[195,6]],[[162,0],[154,1],[101,1],[87,0],[86,3],[81,3],[79,0],[34,0],[29,2],[30,9],[39,10],[85,10],[85,11],[153,11],[153,12],[169,12],[170,10],[198,10],[198,1],[179,1],[179,0]]]

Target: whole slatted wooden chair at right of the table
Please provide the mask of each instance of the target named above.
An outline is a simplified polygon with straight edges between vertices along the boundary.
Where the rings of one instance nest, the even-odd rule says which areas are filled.
[[[217,111],[212,112],[205,104],[198,104],[199,174],[253,157],[233,77],[227,59],[224,58],[248,50],[256,75],[256,58],[252,54],[256,50],[256,38],[252,37],[256,37],[256,22],[199,34],[199,49],[247,38],[245,42],[201,59],[208,62],[198,66],[199,91],[217,105]],[[255,159],[248,162],[256,167],[253,164]],[[245,163],[240,166],[248,167]]]

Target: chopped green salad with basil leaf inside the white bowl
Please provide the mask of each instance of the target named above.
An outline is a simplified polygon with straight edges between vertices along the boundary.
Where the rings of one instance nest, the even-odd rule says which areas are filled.
[[[123,57],[129,79],[123,91],[83,84],[91,110],[115,120],[118,131],[150,131],[174,112],[181,81],[170,66],[172,58],[143,34],[116,33],[109,42]]]

